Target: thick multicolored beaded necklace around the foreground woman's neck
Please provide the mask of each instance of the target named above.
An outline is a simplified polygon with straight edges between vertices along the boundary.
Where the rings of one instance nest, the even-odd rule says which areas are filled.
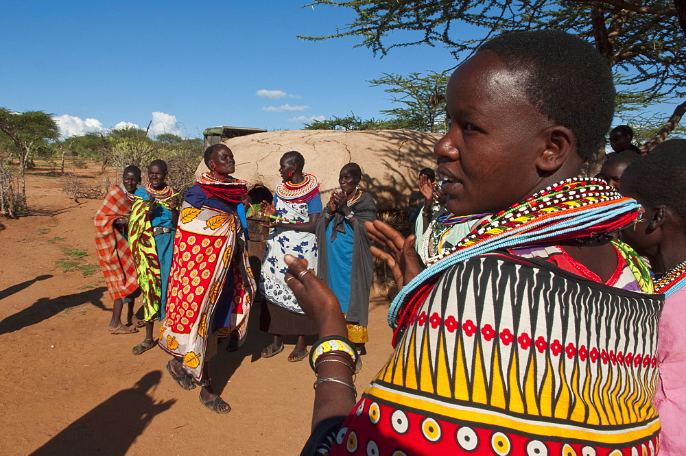
[[[482,221],[453,250],[444,252],[412,279],[393,300],[388,324],[398,326],[401,307],[415,289],[460,261],[515,245],[622,230],[636,219],[640,207],[595,178],[571,178],[551,185]]]

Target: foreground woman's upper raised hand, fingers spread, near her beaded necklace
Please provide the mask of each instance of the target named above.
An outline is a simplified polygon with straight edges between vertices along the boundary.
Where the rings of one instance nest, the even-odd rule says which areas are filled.
[[[388,248],[389,252],[385,252],[372,245],[370,251],[390,267],[398,289],[422,272],[424,267],[414,250],[415,235],[405,238],[398,230],[394,230],[381,220],[365,221],[364,227],[367,228],[367,234],[372,240]]]

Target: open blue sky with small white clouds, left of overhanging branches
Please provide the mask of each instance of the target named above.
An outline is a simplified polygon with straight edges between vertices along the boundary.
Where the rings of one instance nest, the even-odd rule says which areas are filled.
[[[44,110],[64,132],[119,125],[201,136],[233,125],[297,130],[304,121],[383,117],[392,106],[367,80],[444,71],[447,49],[394,49],[358,38],[309,42],[353,19],[304,0],[21,1],[0,14],[0,106]]]

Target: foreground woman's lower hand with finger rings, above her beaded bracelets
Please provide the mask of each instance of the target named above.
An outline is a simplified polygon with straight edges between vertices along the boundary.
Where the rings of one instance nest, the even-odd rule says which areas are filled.
[[[333,291],[307,268],[307,260],[285,255],[283,261],[288,265],[286,284],[293,290],[303,311],[316,323],[319,336],[345,337],[348,333],[346,322]]]

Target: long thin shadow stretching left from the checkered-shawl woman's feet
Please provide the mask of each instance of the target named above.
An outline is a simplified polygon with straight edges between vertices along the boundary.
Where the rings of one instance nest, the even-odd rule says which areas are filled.
[[[30,307],[25,307],[17,313],[0,321],[0,335],[19,331],[21,328],[40,323],[54,315],[64,311],[67,307],[75,307],[90,302],[95,307],[107,311],[102,302],[102,296],[107,289],[105,287],[94,288],[81,293],[74,293],[59,298],[40,298]]]

